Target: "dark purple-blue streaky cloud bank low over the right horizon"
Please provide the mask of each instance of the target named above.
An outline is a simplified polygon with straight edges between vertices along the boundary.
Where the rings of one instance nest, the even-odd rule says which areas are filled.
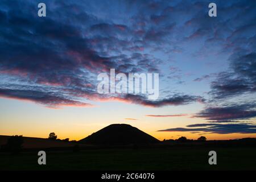
[[[256,133],[256,125],[249,119],[256,117],[256,102],[243,104],[225,104],[208,106],[194,117],[209,120],[208,123],[197,123],[187,127],[177,127],[159,131],[189,131],[191,133]]]

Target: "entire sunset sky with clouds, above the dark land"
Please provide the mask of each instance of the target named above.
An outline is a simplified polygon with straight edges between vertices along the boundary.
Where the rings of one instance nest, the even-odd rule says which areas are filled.
[[[2,0],[0,135],[79,140],[127,123],[160,140],[256,137],[255,12],[244,0]],[[110,69],[159,73],[158,99],[98,93]]]

